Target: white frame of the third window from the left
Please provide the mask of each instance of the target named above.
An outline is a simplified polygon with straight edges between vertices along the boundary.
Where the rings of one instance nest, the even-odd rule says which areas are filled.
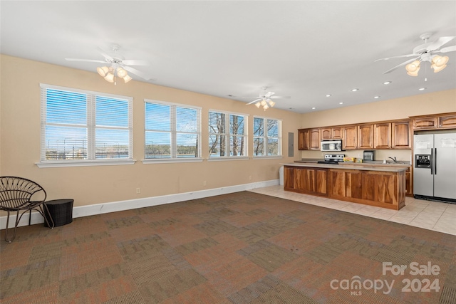
[[[216,133],[216,132],[211,132],[209,130],[209,123],[210,123],[210,115],[211,113],[214,112],[214,113],[218,113],[218,114],[224,114],[225,115],[225,132],[224,133]],[[244,137],[244,155],[238,155],[238,156],[232,156],[230,155],[230,152],[231,152],[231,137],[234,136],[232,133],[231,133],[231,128],[230,127],[226,127],[227,125],[229,126],[230,125],[230,116],[231,115],[236,115],[236,116],[242,116],[244,117],[244,134],[243,135],[237,135],[237,136],[242,136]],[[249,115],[248,114],[245,114],[245,113],[238,113],[238,112],[229,112],[229,111],[223,111],[223,110],[214,110],[214,109],[209,109],[209,111],[207,112],[207,127],[208,127],[208,135],[207,135],[207,139],[208,139],[208,145],[207,147],[210,146],[210,136],[211,135],[224,135],[225,137],[227,137],[227,142],[229,142],[228,145],[226,145],[226,148],[225,148],[225,156],[219,156],[219,157],[211,157],[211,154],[210,152],[208,151],[208,156],[207,156],[207,160],[208,161],[224,161],[224,160],[241,160],[241,159],[249,159],[249,132],[248,132],[248,126],[249,126]]]

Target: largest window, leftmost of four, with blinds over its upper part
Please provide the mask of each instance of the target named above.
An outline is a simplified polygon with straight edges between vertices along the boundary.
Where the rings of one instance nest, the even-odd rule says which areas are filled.
[[[133,161],[133,98],[40,86],[41,164]]]

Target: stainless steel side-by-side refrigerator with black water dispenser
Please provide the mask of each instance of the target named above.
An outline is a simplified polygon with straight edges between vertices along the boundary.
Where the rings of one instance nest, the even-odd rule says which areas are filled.
[[[456,203],[456,133],[413,136],[413,196]]]

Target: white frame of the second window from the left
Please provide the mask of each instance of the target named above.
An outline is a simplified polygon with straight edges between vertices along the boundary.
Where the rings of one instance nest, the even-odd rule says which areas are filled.
[[[199,142],[199,145],[197,147],[197,152],[198,152],[198,157],[169,157],[169,158],[146,158],[145,157],[145,149],[147,146],[146,143],[146,132],[147,131],[157,131],[157,130],[147,130],[147,112],[146,112],[146,106],[147,103],[154,103],[157,105],[167,105],[170,106],[173,110],[171,115],[174,115],[174,117],[171,117],[170,120],[171,122],[174,122],[174,125],[170,127],[170,131],[161,131],[161,132],[169,132],[171,134],[171,142],[170,142],[170,149],[171,149],[171,156],[177,155],[176,150],[177,150],[177,134],[180,134],[182,132],[178,132],[176,129],[176,108],[188,108],[192,110],[197,110],[197,132],[195,134],[197,135],[197,142]],[[186,105],[183,103],[170,103],[167,101],[163,100],[152,100],[152,99],[145,99],[144,100],[144,150],[143,150],[143,159],[142,163],[143,164],[156,164],[156,163],[163,163],[163,162],[202,162],[202,145],[201,145],[201,139],[202,139],[202,108],[197,107],[195,105]]]

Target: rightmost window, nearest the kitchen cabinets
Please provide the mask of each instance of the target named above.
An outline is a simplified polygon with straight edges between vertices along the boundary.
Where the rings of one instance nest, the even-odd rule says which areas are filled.
[[[254,117],[254,157],[281,156],[281,120]]]

